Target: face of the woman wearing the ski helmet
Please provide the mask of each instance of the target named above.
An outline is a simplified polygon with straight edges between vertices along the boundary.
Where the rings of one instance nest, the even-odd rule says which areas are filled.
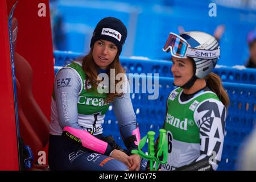
[[[174,85],[183,86],[193,76],[193,63],[188,58],[172,57],[171,71],[174,75]]]

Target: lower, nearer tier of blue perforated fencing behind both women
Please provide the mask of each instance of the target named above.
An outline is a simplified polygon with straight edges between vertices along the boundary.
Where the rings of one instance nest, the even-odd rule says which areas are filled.
[[[147,80],[150,78],[147,77]],[[159,129],[163,127],[164,123],[166,101],[171,90],[174,89],[173,81],[173,78],[159,77],[159,97],[157,100],[148,100],[148,96],[152,96],[152,94],[131,93],[131,101],[139,123],[141,137],[144,137],[150,130],[155,131],[155,138],[158,137]],[[141,82],[137,84],[141,84]],[[228,91],[230,106],[226,117],[222,160],[218,170],[234,170],[236,169],[238,150],[243,146],[243,141],[255,125],[256,85],[224,82],[224,88]],[[112,106],[106,113],[104,134],[113,135],[117,143],[125,147],[119,134],[118,121]]]

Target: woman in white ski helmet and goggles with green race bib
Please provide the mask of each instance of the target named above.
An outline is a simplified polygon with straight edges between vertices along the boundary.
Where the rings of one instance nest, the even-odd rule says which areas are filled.
[[[199,31],[170,33],[163,51],[171,52],[177,88],[167,100],[168,163],[162,170],[216,170],[229,105],[220,77],[212,73],[220,56],[218,42]]]

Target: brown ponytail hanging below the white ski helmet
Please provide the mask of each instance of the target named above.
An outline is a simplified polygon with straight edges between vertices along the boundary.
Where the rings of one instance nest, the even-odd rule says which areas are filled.
[[[210,73],[205,80],[207,81],[207,86],[216,93],[218,98],[220,98],[222,104],[228,109],[229,106],[229,96],[224,90],[221,82],[221,78],[215,73]]]

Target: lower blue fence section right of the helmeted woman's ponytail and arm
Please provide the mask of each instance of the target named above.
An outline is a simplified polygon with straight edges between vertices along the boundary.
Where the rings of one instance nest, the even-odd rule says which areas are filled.
[[[236,169],[236,157],[243,140],[256,121],[256,85],[224,82],[230,106],[226,118],[226,134],[219,170]]]

